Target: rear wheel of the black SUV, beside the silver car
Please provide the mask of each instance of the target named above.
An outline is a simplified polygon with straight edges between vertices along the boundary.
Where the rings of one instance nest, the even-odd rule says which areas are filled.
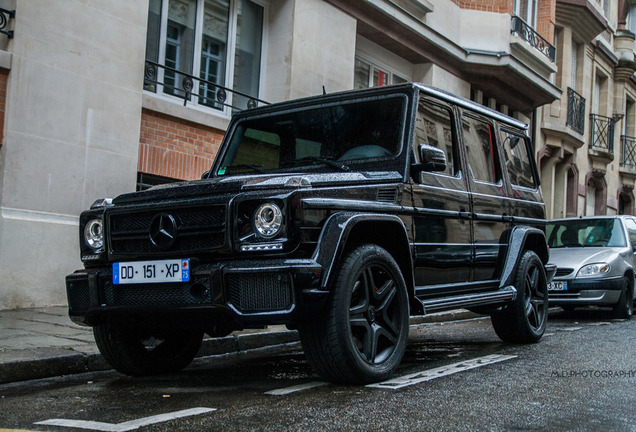
[[[524,252],[514,286],[517,298],[491,315],[492,325],[504,342],[538,342],[548,321],[548,284],[543,263],[535,252]]]

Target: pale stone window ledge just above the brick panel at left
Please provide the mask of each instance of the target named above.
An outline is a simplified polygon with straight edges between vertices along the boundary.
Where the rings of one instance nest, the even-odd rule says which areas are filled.
[[[215,113],[211,109],[183,106],[180,101],[171,101],[154,93],[144,92],[142,107],[189,122],[225,131],[230,118],[224,113]]]

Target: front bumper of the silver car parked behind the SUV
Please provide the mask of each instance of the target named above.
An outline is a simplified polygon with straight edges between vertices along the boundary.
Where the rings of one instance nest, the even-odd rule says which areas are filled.
[[[623,289],[623,277],[603,279],[555,279],[568,283],[567,291],[549,291],[552,305],[611,306],[618,302]]]

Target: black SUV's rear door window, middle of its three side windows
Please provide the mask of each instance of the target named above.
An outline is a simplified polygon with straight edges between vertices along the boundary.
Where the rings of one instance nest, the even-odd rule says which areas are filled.
[[[492,125],[480,118],[464,115],[462,128],[468,155],[468,169],[473,178],[487,183],[497,183],[500,178]]]

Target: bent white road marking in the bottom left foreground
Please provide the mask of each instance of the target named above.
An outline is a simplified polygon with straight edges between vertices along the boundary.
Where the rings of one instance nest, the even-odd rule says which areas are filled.
[[[169,420],[175,420],[183,417],[190,417],[200,414],[216,411],[216,408],[191,408],[187,410],[175,411],[167,414],[159,414],[150,417],[144,417],[137,420],[131,420],[123,423],[102,423],[86,420],[69,420],[69,419],[50,419],[37,422],[37,425],[74,427],[79,429],[90,429],[105,432],[125,432],[139,429],[142,426],[148,426],[155,423],[162,423]]]

